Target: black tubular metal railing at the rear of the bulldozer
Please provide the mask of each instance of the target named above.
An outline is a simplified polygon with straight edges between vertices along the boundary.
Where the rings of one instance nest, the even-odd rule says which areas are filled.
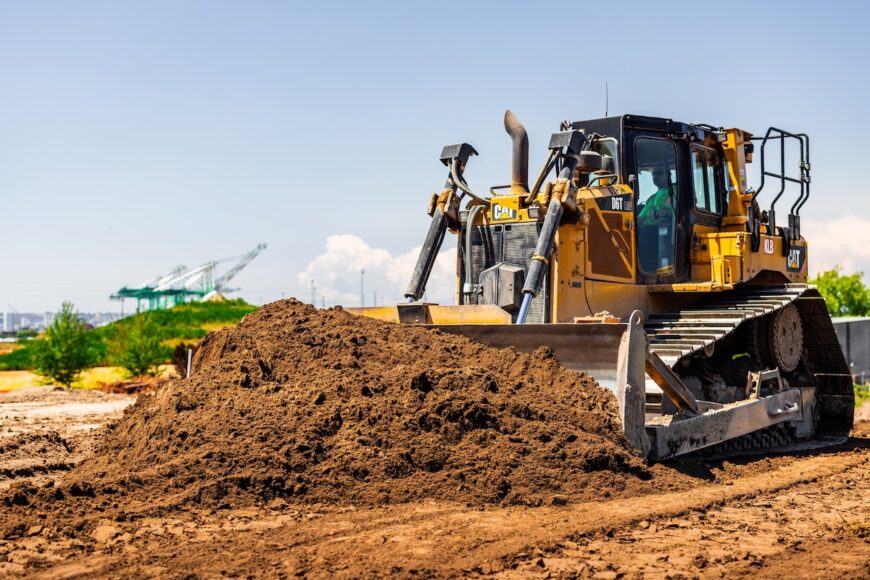
[[[800,164],[798,165],[798,177],[791,177],[789,175],[786,175],[786,139],[794,139],[798,142],[800,146]],[[773,198],[773,201],[770,203],[770,210],[768,210],[767,212],[768,231],[771,235],[777,235],[775,207],[776,202],[778,202],[782,195],[785,193],[786,183],[797,183],[798,185],[800,185],[801,188],[800,195],[792,204],[789,210],[788,227],[782,230],[781,233],[784,242],[782,245],[782,251],[783,255],[786,255],[788,253],[788,248],[791,240],[797,240],[801,237],[800,210],[810,197],[810,138],[806,135],[806,133],[790,133],[777,127],[770,127],[767,129],[764,137],[752,137],[752,141],[761,141],[761,183],[758,186],[758,190],[756,190],[755,193],[752,194],[752,201],[755,201],[755,199],[758,197],[758,194],[760,194],[761,190],[764,189],[765,177],[773,177],[779,179],[780,183],[779,192],[777,192],[776,196]],[[767,171],[764,165],[765,150],[767,144],[771,141],[779,141],[779,173]],[[754,217],[752,219],[754,220]],[[753,235],[757,235],[756,229],[755,227],[752,227],[752,224],[750,225],[750,231],[753,232]],[[757,249],[756,244],[753,244],[753,249]]]

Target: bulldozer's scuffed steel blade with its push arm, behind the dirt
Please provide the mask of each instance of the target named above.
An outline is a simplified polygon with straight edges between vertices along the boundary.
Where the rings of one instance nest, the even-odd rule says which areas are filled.
[[[611,389],[619,405],[626,439],[652,461],[692,453],[784,421],[805,423],[811,417],[812,389],[791,389],[758,399],[721,405],[697,401],[679,378],[658,377],[668,392],[685,400],[675,416],[647,422],[646,376],[662,365],[647,347],[642,316],[628,322],[600,324],[431,325],[491,346],[534,352],[552,349],[565,368],[591,375]],[[670,369],[668,369],[669,371]]]

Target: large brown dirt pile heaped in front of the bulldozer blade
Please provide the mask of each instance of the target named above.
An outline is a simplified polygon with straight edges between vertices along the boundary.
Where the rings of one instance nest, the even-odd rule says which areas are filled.
[[[645,475],[613,397],[533,355],[316,310],[210,334],[192,377],[142,396],[81,489],[206,506],[434,498],[565,503]]]

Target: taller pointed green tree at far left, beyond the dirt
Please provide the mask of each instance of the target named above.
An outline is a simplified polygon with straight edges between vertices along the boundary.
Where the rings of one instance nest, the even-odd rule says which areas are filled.
[[[31,343],[33,369],[69,388],[76,377],[99,360],[100,339],[88,329],[71,302],[64,302],[43,338]]]

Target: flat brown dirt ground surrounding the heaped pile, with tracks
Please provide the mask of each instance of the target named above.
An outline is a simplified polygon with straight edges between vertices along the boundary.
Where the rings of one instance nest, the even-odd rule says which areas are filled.
[[[100,438],[95,427],[132,400],[0,395],[0,485],[61,482]],[[74,518],[84,536],[57,533],[48,517],[3,530],[0,576],[870,577],[870,423],[824,451],[653,473],[646,493],[563,506],[274,500],[167,517],[131,505],[112,521]],[[657,489],[660,479],[680,484]]]

